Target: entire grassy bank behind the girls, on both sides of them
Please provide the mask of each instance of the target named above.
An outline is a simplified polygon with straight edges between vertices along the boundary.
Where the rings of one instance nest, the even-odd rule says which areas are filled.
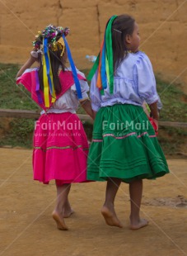
[[[30,98],[29,92],[22,86],[16,86],[16,73],[20,66],[16,64],[0,64],[0,108],[23,109],[40,111],[40,108]],[[82,69],[86,75],[89,69]],[[182,91],[180,83],[163,81],[157,76],[157,91],[161,97],[163,108],[161,110],[161,121],[187,122],[187,95]],[[80,107],[78,113],[85,114]],[[7,120],[6,120],[7,121]],[[30,119],[13,119],[9,128],[5,128],[0,121],[0,145],[12,145],[31,147],[34,121]],[[91,126],[84,125],[86,134],[91,140]],[[165,154],[175,154],[185,143],[186,129],[164,127],[159,130],[158,140]]]

